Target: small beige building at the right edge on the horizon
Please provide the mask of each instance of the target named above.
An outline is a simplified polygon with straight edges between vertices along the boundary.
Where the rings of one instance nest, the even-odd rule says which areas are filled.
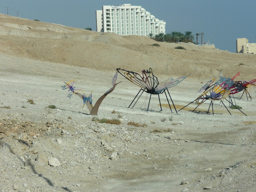
[[[256,43],[248,43],[246,38],[238,38],[237,42],[237,53],[247,53],[256,55]]]

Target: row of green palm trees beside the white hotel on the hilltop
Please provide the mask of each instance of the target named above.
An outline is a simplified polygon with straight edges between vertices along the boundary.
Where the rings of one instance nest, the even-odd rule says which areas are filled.
[[[198,36],[204,35],[204,33],[196,33],[196,43],[194,42],[194,35],[192,35],[191,31],[185,31],[185,33],[181,33],[178,31],[172,31],[171,33],[158,33],[153,36],[152,33],[148,34],[147,36],[151,39],[155,39],[156,41],[162,41],[162,42],[193,42],[195,44],[198,44]],[[202,39],[202,37],[201,37]]]

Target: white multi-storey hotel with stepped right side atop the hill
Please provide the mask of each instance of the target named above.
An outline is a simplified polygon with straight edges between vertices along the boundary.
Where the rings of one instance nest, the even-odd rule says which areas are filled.
[[[96,11],[96,30],[119,35],[147,36],[150,33],[165,33],[165,22],[156,19],[141,6],[108,5]]]

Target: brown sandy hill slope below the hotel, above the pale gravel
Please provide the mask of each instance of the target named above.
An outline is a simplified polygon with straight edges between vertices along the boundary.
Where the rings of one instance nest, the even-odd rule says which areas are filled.
[[[116,68],[211,79],[251,80],[255,55],[236,54],[191,44],[156,42],[148,37],[99,33],[0,14],[0,51],[12,56],[97,70]],[[154,46],[158,44],[159,46]],[[175,49],[183,46],[187,50]],[[241,63],[241,64],[240,64]],[[240,65],[239,65],[240,64]]]

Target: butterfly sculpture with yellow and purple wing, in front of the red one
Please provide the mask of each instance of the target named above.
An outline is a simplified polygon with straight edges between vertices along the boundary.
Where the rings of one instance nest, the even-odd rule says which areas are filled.
[[[240,75],[240,73],[238,72],[232,79],[220,76],[220,79],[218,81],[216,81],[215,84],[213,84],[212,86],[207,86],[207,89],[205,89],[205,91],[203,93],[201,93],[198,98],[196,98],[194,100],[197,103],[197,107],[199,105],[201,105],[202,103],[204,103],[206,100],[210,100],[211,101],[210,102],[210,106],[212,106],[212,114],[214,114],[214,111],[213,111],[213,102],[214,101],[220,101],[225,106],[225,108],[228,110],[226,105],[223,103],[223,100],[224,99],[227,100],[226,98],[231,93],[232,86],[234,85],[234,81],[233,80],[234,80],[234,78],[238,77],[239,75]],[[194,101],[190,102],[189,104],[193,103]],[[230,101],[228,101],[228,102],[233,105],[233,103],[231,103]],[[186,106],[188,106],[188,105],[186,105]],[[180,110],[184,109],[186,106],[184,106]],[[207,113],[209,113],[210,106],[208,108]],[[235,108],[237,108],[235,105],[233,105],[233,106]],[[195,111],[196,108],[193,111]],[[240,109],[238,109],[238,110],[241,111]],[[229,110],[228,110],[228,112],[229,112]],[[231,115],[230,112],[229,112],[229,114]],[[244,114],[244,115],[246,115],[246,114]]]

